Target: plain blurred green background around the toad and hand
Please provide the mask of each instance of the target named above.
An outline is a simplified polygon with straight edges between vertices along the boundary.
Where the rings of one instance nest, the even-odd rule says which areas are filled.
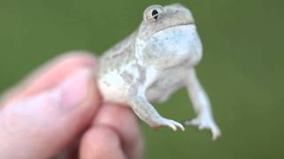
[[[101,54],[138,27],[150,4],[177,1],[0,0],[0,92],[71,49]],[[180,0],[204,46],[197,71],[223,136],[142,124],[146,158],[284,158],[284,1]],[[185,89],[155,104],[179,121],[194,117]]]

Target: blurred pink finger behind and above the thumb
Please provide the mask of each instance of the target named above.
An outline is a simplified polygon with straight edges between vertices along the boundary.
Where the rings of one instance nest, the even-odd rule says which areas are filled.
[[[12,88],[4,96],[4,101],[17,102],[30,95],[35,95],[44,89],[58,85],[59,82],[66,79],[72,72],[83,67],[94,68],[95,64],[95,58],[91,57],[91,54],[87,52],[69,52],[47,64],[43,64],[43,67],[29,75],[19,86]]]

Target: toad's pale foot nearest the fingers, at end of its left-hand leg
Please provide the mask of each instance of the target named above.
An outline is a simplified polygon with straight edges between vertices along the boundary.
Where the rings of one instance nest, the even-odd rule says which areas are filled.
[[[152,127],[161,127],[161,126],[168,126],[170,127],[173,131],[177,131],[177,128],[180,128],[182,131],[185,131],[185,128],[183,125],[180,123],[170,120],[168,118],[159,118],[156,123],[152,125]]]

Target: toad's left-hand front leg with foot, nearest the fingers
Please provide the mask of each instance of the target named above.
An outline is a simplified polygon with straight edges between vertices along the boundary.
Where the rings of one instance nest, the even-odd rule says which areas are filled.
[[[162,117],[146,99],[145,89],[141,86],[130,87],[128,92],[128,104],[138,117],[151,127],[168,126],[173,131],[177,128],[185,130],[184,126],[174,120]]]

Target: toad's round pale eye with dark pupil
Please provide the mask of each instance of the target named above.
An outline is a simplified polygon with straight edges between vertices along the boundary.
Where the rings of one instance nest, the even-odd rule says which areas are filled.
[[[147,22],[154,22],[161,19],[163,10],[161,5],[152,5],[144,11],[144,20]]]

